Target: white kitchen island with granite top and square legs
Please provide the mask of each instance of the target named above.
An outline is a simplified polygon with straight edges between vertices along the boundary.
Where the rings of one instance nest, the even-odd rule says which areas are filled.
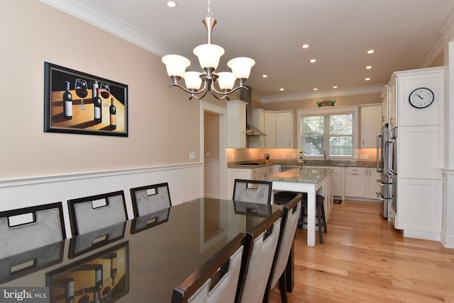
[[[272,181],[273,191],[290,191],[307,193],[307,245],[316,244],[316,195],[323,195],[326,202],[326,214],[329,214],[333,204],[331,178],[333,169],[330,168],[294,168],[266,178]]]

